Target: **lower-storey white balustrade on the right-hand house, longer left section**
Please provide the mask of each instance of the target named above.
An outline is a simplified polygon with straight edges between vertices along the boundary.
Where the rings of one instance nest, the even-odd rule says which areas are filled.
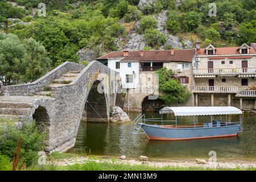
[[[194,93],[237,93],[237,86],[194,86]]]

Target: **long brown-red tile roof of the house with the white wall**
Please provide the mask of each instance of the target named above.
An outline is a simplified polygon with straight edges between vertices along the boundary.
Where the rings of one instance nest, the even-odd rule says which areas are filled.
[[[141,56],[141,51],[131,51],[128,56],[123,56],[123,51],[110,52],[104,56],[98,57],[96,60],[102,59],[113,59],[122,58],[123,61],[186,61],[191,62],[193,56],[195,55],[195,49],[181,49],[174,50],[174,55],[171,55],[171,50],[164,51],[143,51],[143,56]]]

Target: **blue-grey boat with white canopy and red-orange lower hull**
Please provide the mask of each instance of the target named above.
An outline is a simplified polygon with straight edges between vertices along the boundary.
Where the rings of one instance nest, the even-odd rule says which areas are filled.
[[[242,132],[241,114],[242,111],[236,107],[164,107],[160,114],[174,114],[175,121],[163,121],[162,118],[146,119],[141,115],[141,120],[137,119],[133,125],[134,134],[142,129],[150,140],[186,140],[201,138],[232,137],[238,132]],[[240,114],[240,121],[228,122],[227,115]],[[209,115],[210,122],[196,123],[199,115]],[[219,115],[220,119],[213,120],[213,115]],[[222,120],[225,115],[225,121]],[[191,116],[192,123],[189,125],[177,125],[179,116]],[[139,122],[141,121],[141,122]],[[147,124],[146,122],[159,122],[158,124]],[[166,124],[172,123],[172,124]]]

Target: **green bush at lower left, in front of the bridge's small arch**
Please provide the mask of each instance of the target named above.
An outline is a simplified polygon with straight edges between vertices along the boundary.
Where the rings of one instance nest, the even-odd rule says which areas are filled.
[[[36,123],[32,122],[30,125],[25,124],[22,129],[14,125],[6,125],[0,129],[0,153],[7,156],[9,160],[13,159],[13,154],[16,152],[16,146],[21,139],[22,156],[21,163],[25,162],[27,166],[31,166],[38,158],[38,151],[44,148],[44,133],[39,133]]]

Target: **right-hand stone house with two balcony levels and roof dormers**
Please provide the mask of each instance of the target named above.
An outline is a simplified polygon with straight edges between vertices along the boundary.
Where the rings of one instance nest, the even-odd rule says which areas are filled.
[[[196,43],[192,90],[196,106],[255,107],[256,46],[201,48]]]

